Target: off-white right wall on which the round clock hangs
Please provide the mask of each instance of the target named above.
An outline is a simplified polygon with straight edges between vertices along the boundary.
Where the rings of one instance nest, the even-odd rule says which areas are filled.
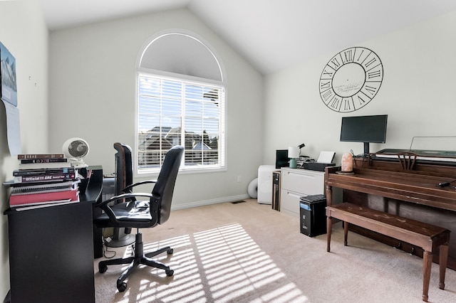
[[[324,66],[343,48],[267,76],[264,160],[273,161],[275,149],[301,142],[301,154],[336,151],[336,164],[351,149],[361,154],[363,144],[339,142],[343,116],[388,114],[386,143],[371,144],[371,151],[408,149],[414,136],[456,136],[454,28],[456,12],[358,43],[377,53],[384,77],[378,94],[356,112],[330,110],[318,91]]]

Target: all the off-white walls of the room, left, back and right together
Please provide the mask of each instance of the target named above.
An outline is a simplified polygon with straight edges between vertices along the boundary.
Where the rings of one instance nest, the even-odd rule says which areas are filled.
[[[17,63],[23,151],[60,151],[68,137],[83,137],[91,147],[88,163],[102,164],[107,174],[113,172],[113,142],[134,145],[138,50],[153,33],[168,28],[185,28],[211,43],[224,62],[229,84],[228,171],[180,176],[177,206],[242,196],[258,166],[274,163],[275,150],[291,144],[306,143],[303,154],[314,157],[318,151],[334,150],[336,161],[350,149],[361,153],[362,144],[338,142],[343,115],[323,105],[318,94],[321,70],[341,49],[268,75],[263,83],[261,75],[207,26],[180,10],[51,33],[48,77],[48,33],[37,1],[0,1],[0,41]],[[387,143],[373,144],[373,150],[408,148],[413,136],[455,134],[454,28],[456,12],[358,44],[380,56],[385,72],[374,100],[352,113],[388,114]],[[17,163],[6,147],[5,112],[0,108],[3,182],[11,179]],[[241,183],[237,176],[242,176]],[[0,198],[3,212],[7,207],[3,186]],[[0,224],[1,297],[9,289],[4,216]]]

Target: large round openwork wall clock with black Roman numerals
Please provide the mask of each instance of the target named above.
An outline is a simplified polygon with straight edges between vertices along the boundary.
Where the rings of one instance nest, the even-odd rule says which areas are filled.
[[[371,102],[383,80],[383,65],[372,50],[342,50],[326,64],[320,77],[320,97],[336,112],[354,112]]]

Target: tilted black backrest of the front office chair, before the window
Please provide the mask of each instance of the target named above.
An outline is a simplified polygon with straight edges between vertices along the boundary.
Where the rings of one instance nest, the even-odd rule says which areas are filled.
[[[160,205],[158,211],[158,223],[165,223],[170,218],[172,194],[174,193],[174,186],[179,171],[180,162],[184,154],[184,147],[177,145],[172,147],[165,156],[162,169],[157,178],[157,183],[152,189],[152,196],[159,197]],[[150,205],[152,213],[152,203]]]

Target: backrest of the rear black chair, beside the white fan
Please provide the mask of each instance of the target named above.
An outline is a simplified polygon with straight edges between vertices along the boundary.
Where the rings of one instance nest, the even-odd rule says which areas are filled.
[[[127,144],[114,143],[115,153],[115,195],[123,193],[122,189],[133,184],[133,161],[131,147]]]

